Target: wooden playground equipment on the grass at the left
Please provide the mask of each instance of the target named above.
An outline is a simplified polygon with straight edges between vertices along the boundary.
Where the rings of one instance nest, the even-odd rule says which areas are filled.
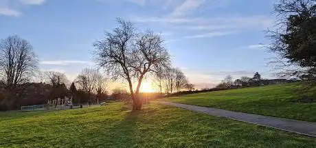
[[[73,107],[72,96],[70,98],[67,98],[65,96],[65,98],[56,98],[54,100],[48,100],[46,109],[47,110],[51,110],[51,109],[59,110],[59,109],[71,109],[72,107]]]

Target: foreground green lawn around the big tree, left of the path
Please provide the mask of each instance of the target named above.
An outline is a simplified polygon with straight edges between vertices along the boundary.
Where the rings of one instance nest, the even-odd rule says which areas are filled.
[[[315,138],[150,104],[0,114],[0,147],[316,147]]]

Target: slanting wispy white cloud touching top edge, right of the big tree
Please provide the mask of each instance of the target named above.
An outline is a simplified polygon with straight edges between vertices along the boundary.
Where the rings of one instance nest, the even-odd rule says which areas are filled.
[[[180,6],[174,9],[174,11],[170,14],[172,17],[183,17],[190,11],[199,8],[205,0],[185,0]]]

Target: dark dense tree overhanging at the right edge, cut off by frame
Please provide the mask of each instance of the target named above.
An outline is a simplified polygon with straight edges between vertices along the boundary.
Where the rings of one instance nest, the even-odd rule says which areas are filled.
[[[278,23],[275,30],[268,31],[268,37],[270,50],[280,57],[276,63],[280,63],[281,75],[308,75],[315,80],[316,1],[280,0],[274,12]]]

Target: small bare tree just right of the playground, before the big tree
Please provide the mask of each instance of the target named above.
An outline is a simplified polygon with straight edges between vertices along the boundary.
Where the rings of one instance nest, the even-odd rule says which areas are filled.
[[[92,68],[84,68],[76,78],[78,88],[83,92],[87,92],[88,101],[91,101],[91,94],[95,90],[97,79],[98,70]]]

